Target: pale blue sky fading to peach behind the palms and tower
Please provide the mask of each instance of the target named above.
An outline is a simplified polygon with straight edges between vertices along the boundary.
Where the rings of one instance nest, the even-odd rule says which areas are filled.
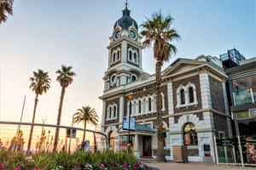
[[[61,94],[55,71],[72,65],[77,73],[67,88],[61,124],[91,105],[102,114],[102,76],[107,69],[109,37],[121,17],[123,0],[15,0],[14,16],[0,26],[0,120],[19,121],[26,95],[24,121],[32,119],[35,95],[28,88],[32,71],[49,71],[48,94],[39,96],[36,122],[55,123]],[[219,56],[237,48],[247,58],[256,56],[256,1],[254,0],[130,0],[131,17],[142,24],[157,11],[171,14],[182,37],[175,42],[177,57]],[[170,63],[166,63],[168,65]],[[165,65],[165,66],[166,66]],[[143,69],[154,72],[152,49],[143,50]]]

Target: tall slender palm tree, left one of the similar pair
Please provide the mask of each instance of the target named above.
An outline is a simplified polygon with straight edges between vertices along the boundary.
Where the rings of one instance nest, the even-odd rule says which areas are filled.
[[[32,91],[36,94],[33,117],[32,117],[32,123],[34,123],[36,110],[38,106],[38,95],[42,95],[43,93],[46,93],[49,90],[50,78],[49,78],[48,72],[44,72],[38,69],[38,72],[33,71],[33,77],[30,77],[30,81],[31,81],[31,84],[29,88],[32,88]],[[34,126],[32,125],[30,134],[29,134],[28,144],[27,144],[28,151],[30,150],[30,147],[31,147],[33,128]]]

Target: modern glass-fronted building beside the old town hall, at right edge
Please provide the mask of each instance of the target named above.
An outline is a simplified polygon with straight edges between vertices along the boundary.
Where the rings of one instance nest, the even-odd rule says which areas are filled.
[[[236,49],[230,51],[233,57],[222,58],[228,54],[220,55],[224,65],[236,60],[236,65],[225,65],[229,76],[230,111],[240,139],[243,161],[252,164],[256,163],[256,58],[245,59]]]

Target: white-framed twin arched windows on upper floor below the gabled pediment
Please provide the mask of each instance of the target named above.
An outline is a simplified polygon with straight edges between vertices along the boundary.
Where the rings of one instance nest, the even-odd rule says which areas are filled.
[[[177,88],[177,105],[183,107],[188,105],[197,105],[195,84],[189,82],[186,86],[180,85]]]

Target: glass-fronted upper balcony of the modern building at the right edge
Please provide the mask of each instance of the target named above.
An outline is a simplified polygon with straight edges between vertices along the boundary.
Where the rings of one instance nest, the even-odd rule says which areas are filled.
[[[233,92],[234,105],[256,103],[256,88],[244,88]]]

